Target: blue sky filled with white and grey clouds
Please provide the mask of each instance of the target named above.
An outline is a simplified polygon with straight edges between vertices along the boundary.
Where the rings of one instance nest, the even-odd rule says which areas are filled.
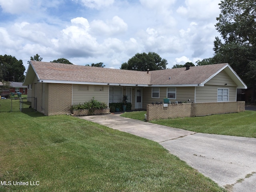
[[[0,55],[27,68],[45,62],[103,62],[120,68],[136,53],[175,64],[213,56],[220,0],[0,0]]]

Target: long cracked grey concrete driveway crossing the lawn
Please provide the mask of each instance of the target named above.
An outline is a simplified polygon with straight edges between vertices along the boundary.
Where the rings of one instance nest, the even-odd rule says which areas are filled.
[[[154,140],[230,191],[256,191],[256,138],[195,133],[118,114],[79,118]]]

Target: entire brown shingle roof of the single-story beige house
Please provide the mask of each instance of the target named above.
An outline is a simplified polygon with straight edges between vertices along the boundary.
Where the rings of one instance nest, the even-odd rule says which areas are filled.
[[[53,62],[30,61],[40,80],[140,84],[179,85],[200,84],[227,64],[214,64],[186,68],[174,68],[147,72],[120,70]],[[170,77],[170,80],[169,80]]]

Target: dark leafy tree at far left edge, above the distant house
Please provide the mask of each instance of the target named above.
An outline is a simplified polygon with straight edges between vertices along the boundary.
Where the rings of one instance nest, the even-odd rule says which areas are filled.
[[[17,60],[11,55],[0,55],[1,81],[24,81],[25,67],[22,60]]]

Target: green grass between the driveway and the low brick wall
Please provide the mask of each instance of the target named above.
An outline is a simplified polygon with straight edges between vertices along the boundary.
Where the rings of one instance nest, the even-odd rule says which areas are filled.
[[[130,114],[127,112],[122,116],[143,120],[145,113],[145,111],[130,112]],[[151,122],[200,133],[256,138],[256,111],[246,110],[240,113],[153,120]]]

